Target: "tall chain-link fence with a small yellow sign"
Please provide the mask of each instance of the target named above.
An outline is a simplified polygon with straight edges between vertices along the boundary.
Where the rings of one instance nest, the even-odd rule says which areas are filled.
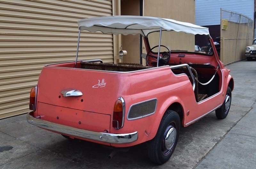
[[[220,60],[229,64],[245,59],[245,47],[252,45],[253,20],[231,11],[220,12]]]

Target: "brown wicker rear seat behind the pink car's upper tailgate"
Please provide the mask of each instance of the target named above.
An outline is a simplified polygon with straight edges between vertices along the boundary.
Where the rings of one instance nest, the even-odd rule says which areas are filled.
[[[131,64],[110,64],[110,63],[96,63],[96,62],[81,62],[81,69],[93,69],[93,70],[107,70],[107,71],[136,71],[149,69],[153,67]]]

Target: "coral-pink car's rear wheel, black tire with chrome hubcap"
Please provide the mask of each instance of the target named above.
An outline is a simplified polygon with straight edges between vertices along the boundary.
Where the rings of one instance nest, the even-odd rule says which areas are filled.
[[[174,129],[175,128],[175,131]],[[165,137],[170,131],[170,142],[168,144],[170,149],[166,149]],[[174,133],[175,132],[175,133]],[[175,135],[176,136],[175,136]],[[164,164],[168,161],[175,147],[178,143],[180,134],[180,116],[172,110],[167,110],[161,120],[156,136],[149,142],[148,157],[156,164]],[[175,138],[175,140],[174,140]],[[166,142],[167,144],[167,142]]]

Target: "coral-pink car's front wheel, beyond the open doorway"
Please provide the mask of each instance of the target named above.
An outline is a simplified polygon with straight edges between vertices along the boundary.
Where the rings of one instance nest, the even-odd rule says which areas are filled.
[[[229,96],[229,98],[230,98],[228,108],[225,107],[225,105],[226,105],[225,102],[226,102],[227,96]],[[222,106],[220,108],[215,110],[215,114],[216,114],[216,117],[218,119],[225,119],[227,117],[230,106],[231,106],[231,98],[232,98],[231,89],[230,89],[230,87],[228,87],[227,92],[226,92],[226,96],[225,96],[225,99],[224,99],[224,103],[222,104]]]

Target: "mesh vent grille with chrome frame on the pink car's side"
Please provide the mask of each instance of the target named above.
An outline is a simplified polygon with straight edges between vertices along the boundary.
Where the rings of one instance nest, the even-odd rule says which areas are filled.
[[[154,114],[156,111],[156,103],[157,99],[151,99],[132,105],[129,109],[127,119],[135,120]]]

